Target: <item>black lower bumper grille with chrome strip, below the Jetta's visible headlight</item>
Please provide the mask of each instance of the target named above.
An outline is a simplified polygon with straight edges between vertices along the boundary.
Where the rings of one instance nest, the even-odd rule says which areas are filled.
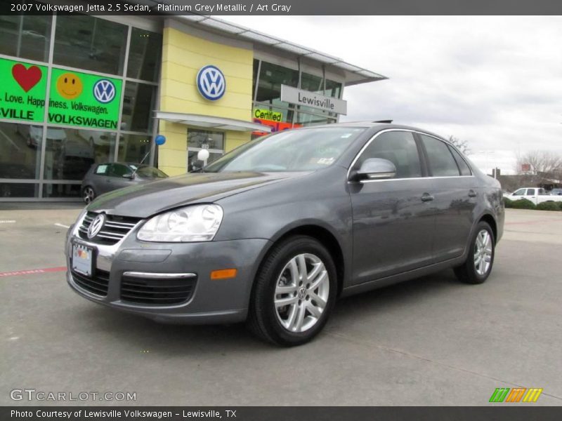
[[[177,305],[187,302],[195,289],[191,279],[145,279],[123,276],[121,299],[145,305]]]

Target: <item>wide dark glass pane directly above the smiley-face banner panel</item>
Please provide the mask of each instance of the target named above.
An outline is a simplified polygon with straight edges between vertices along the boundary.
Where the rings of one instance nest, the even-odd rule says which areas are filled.
[[[123,74],[127,27],[85,15],[58,15],[53,62],[89,72]]]

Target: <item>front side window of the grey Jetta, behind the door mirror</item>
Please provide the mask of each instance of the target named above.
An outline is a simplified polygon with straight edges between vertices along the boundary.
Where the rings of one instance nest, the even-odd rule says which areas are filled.
[[[410,132],[389,131],[377,136],[359,156],[355,168],[369,158],[391,161],[396,166],[395,178],[421,177],[416,141]]]

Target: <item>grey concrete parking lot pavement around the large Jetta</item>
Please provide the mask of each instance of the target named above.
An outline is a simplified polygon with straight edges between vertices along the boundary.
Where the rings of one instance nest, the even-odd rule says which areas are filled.
[[[497,387],[562,405],[560,212],[508,209],[481,286],[446,271],[346,298],[313,342],[280,349],[243,326],[163,326],[79,297],[60,267],[80,209],[1,209],[0,405],[57,404],[11,400],[27,388],[136,392],[62,402],[90,405],[481,406]]]

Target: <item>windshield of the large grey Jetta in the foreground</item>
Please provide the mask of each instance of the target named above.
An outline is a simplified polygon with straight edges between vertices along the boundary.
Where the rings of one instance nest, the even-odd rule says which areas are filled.
[[[332,165],[364,131],[341,126],[283,131],[242,145],[203,171],[314,171]]]

